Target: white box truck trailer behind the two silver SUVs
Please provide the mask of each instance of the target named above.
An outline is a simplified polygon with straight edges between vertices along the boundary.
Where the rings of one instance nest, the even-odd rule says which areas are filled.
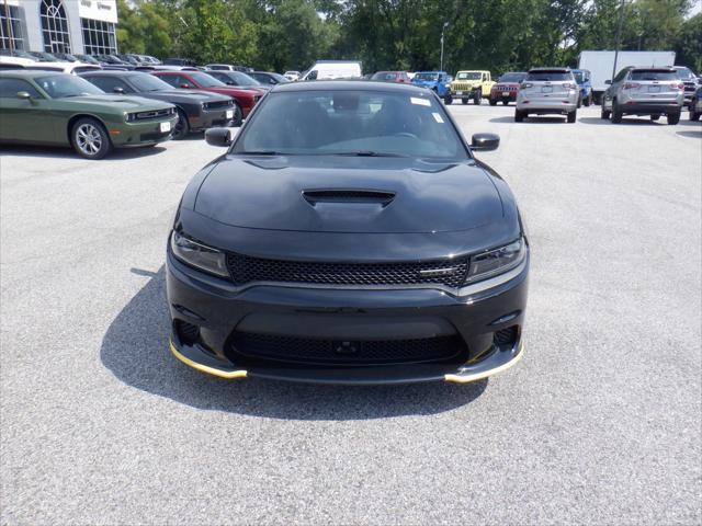
[[[619,52],[616,67],[614,65],[615,52],[581,52],[578,59],[578,69],[590,71],[592,93],[595,101],[600,103],[600,98],[607,90],[605,80],[612,80],[612,69],[615,75],[626,66],[645,68],[650,66],[672,66],[676,64],[675,52]]]

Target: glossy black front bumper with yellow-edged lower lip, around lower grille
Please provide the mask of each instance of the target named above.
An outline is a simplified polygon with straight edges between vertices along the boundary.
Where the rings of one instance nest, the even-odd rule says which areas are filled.
[[[171,352],[186,365],[220,378],[260,377],[321,384],[467,382],[516,364],[522,355],[522,325],[529,255],[518,268],[482,282],[462,296],[444,290],[307,288],[231,284],[183,265],[168,254],[167,291]],[[223,286],[219,286],[223,285]],[[177,323],[197,325],[185,342]],[[494,340],[516,328],[509,342]],[[446,361],[392,364],[301,364],[256,359],[233,352],[234,334],[272,333],[335,340],[393,340],[455,335],[465,352]]]

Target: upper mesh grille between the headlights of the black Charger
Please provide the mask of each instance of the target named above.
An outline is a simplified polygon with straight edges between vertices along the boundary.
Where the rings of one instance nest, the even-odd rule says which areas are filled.
[[[286,282],[325,285],[434,284],[460,287],[465,283],[468,258],[412,263],[321,263],[228,254],[227,266],[238,285]]]

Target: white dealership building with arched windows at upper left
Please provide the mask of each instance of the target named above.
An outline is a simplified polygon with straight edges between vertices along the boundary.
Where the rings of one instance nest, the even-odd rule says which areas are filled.
[[[116,0],[0,0],[0,48],[117,52]]]

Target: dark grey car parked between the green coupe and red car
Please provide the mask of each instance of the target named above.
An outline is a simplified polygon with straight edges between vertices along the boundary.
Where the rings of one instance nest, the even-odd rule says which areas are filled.
[[[230,96],[196,90],[181,90],[152,75],[139,71],[92,71],[80,77],[105,93],[123,93],[170,102],[178,111],[172,139],[184,138],[191,132],[215,126],[229,126],[235,118]]]

